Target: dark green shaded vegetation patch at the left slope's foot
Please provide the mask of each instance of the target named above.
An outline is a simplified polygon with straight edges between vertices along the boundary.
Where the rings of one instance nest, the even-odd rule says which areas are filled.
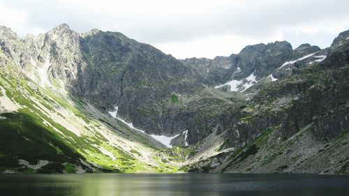
[[[38,160],[52,160],[56,163],[76,163],[84,158],[70,149],[56,135],[47,131],[36,119],[25,113],[3,113],[0,119],[0,145],[3,156],[0,157],[1,169],[20,167],[18,159],[36,164]],[[50,144],[52,145],[50,145]],[[61,149],[57,151],[56,147]],[[55,172],[62,172],[59,168]]]

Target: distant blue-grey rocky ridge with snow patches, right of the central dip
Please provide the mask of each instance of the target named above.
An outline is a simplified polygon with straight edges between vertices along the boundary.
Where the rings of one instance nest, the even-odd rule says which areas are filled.
[[[229,57],[217,56],[209,59],[185,59],[186,66],[195,70],[204,79],[206,84],[216,85],[229,80],[243,80],[252,73],[258,80],[273,73],[286,61],[299,59],[307,54],[319,52],[320,48],[303,44],[292,50],[290,43],[276,41],[274,43],[249,45],[239,54]]]

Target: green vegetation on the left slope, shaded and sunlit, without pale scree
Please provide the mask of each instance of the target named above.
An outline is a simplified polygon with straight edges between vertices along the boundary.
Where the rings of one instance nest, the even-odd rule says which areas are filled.
[[[10,169],[29,173],[71,173],[77,172],[77,167],[82,167],[87,172],[177,172],[179,169],[161,161],[157,161],[157,165],[143,163],[142,158],[138,160],[134,157],[142,156],[140,152],[132,149],[127,153],[112,146],[99,132],[94,132],[94,135],[75,135],[47,114],[51,112],[66,119],[68,116],[56,112],[66,110],[75,115],[73,118],[82,119],[89,125],[83,127],[88,132],[98,130],[100,126],[95,122],[96,119],[82,112],[87,105],[84,100],[73,96],[64,98],[59,93],[40,87],[34,91],[25,77],[17,80],[0,74],[0,86],[6,90],[8,98],[21,105],[17,112],[3,113],[4,118],[0,119],[0,146],[6,146],[0,153],[0,172]],[[19,89],[18,86],[24,89]],[[29,97],[37,99],[38,102]],[[130,131],[124,123],[117,123],[123,130]],[[149,148],[149,141],[140,138],[140,142],[144,142],[144,147]],[[152,146],[149,150],[151,149]],[[105,155],[105,151],[108,155]],[[22,165],[18,164],[19,159],[27,160],[32,165],[36,165],[38,160],[49,160],[50,163],[34,170],[22,168]],[[80,160],[100,168],[90,166],[94,167],[93,171]]]

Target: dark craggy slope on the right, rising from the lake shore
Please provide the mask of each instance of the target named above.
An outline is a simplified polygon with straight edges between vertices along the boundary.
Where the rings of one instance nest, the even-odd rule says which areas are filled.
[[[189,170],[348,174],[349,41],[341,35],[309,56],[318,63],[291,68],[289,77],[265,84],[244,105],[222,113],[215,155],[198,156]]]

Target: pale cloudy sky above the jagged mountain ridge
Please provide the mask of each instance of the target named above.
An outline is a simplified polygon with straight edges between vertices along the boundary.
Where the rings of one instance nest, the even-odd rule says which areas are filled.
[[[0,25],[18,36],[61,23],[80,33],[119,31],[179,59],[213,58],[275,40],[328,47],[349,29],[349,1],[0,0]]]

